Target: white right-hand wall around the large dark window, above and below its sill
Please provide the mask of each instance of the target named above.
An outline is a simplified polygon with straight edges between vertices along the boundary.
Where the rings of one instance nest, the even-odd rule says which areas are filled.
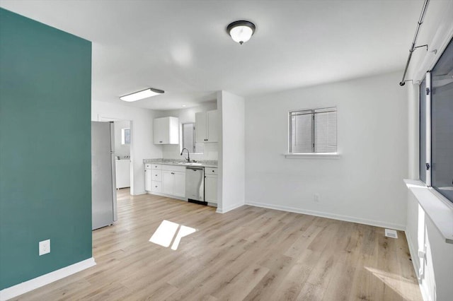
[[[419,178],[419,86],[425,72],[432,69],[442,50],[453,36],[453,1],[430,1],[423,22],[418,45],[428,44],[428,52],[416,50],[411,61],[406,83],[408,92],[408,168],[411,179]],[[437,53],[434,50],[437,49]],[[418,205],[418,200],[408,191],[406,237],[415,266],[420,276],[420,288],[424,300],[451,300],[453,296],[453,244],[445,242],[432,219]],[[426,258],[418,259],[418,250],[426,249]],[[421,273],[420,266],[423,266]]]

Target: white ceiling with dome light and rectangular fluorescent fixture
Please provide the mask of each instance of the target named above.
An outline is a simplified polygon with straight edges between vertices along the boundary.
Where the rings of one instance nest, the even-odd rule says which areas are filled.
[[[156,110],[401,70],[423,0],[0,0],[93,42],[93,100]],[[256,24],[239,45],[226,25]],[[397,84],[397,83],[396,83]],[[164,95],[122,102],[144,88]]]

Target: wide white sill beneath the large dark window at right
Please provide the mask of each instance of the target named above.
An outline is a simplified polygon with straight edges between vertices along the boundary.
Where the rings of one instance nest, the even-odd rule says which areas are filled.
[[[404,179],[404,182],[445,238],[445,242],[453,244],[453,206],[444,196],[426,187],[420,180]]]

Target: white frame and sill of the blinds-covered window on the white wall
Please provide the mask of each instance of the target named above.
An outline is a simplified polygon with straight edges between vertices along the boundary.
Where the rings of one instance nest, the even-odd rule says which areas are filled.
[[[316,112],[319,111],[319,112]],[[336,112],[336,151],[334,152],[316,152],[316,121],[315,116],[316,114],[320,113],[328,113],[328,112]],[[300,113],[300,114],[294,114]],[[338,155],[338,107],[337,106],[329,106],[329,107],[314,107],[310,109],[299,109],[299,110],[290,110],[288,112],[288,146],[287,146],[287,153],[285,156],[287,158],[295,157],[295,156],[304,156],[306,158],[314,158],[314,157],[333,157]],[[304,152],[304,153],[293,153],[292,152],[292,119],[291,117],[301,115],[301,114],[311,114],[311,152]]]

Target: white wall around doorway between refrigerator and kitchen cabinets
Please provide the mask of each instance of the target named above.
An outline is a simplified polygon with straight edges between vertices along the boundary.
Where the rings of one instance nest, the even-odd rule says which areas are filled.
[[[131,160],[133,169],[133,183],[131,194],[144,194],[144,165],[143,159],[161,158],[160,146],[153,144],[152,110],[115,105],[110,102],[91,102],[91,120],[98,121],[101,117],[126,119],[131,121]]]

